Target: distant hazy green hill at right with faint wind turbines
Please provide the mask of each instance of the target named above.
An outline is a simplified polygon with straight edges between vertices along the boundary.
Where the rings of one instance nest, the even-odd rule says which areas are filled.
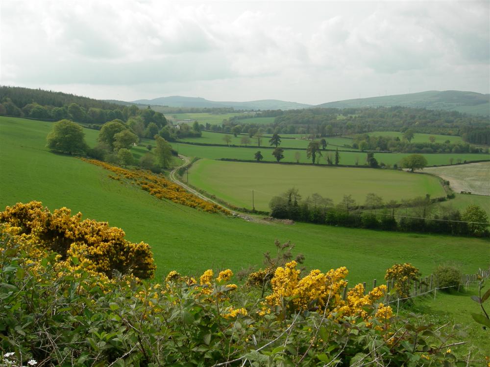
[[[471,115],[490,115],[490,94],[461,91],[428,91],[382,97],[346,99],[315,107],[415,107],[429,110],[458,111]]]

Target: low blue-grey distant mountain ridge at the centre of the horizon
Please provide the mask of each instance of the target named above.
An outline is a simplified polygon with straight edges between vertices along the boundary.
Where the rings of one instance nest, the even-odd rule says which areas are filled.
[[[277,99],[261,99],[249,102],[217,102],[200,97],[182,97],[173,95],[171,97],[160,97],[154,99],[138,99],[132,103],[169,106],[169,107],[196,107],[196,108],[220,108],[232,107],[235,110],[294,110],[312,107],[303,103],[286,102]]]

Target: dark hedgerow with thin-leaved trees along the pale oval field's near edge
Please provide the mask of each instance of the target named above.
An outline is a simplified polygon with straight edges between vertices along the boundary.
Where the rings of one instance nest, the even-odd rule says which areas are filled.
[[[333,206],[331,199],[314,194],[302,200],[297,189],[274,196],[269,203],[270,215],[279,219],[379,230],[403,232],[447,233],[482,237],[489,234],[488,216],[479,206],[458,209],[439,206],[438,200],[419,197],[383,203],[381,197],[368,194],[366,204],[358,205],[351,195]],[[405,209],[395,214],[395,209]]]

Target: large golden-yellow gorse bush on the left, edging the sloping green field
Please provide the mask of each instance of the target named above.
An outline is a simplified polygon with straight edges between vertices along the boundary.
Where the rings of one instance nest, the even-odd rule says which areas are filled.
[[[30,258],[57,252],[59,260],[72,269],[84,268],[107,277],[114,270],[143,279],[153,277],[156,266],[148,244],[127,241],[122,229],[109,227],[107,222],[81,218],[81,213],[72,215],[66,207],[51,213],[36,201],[7,206],[0,212],[4,231],[18,240]],[[78,259],[76,264],[72,257]]]

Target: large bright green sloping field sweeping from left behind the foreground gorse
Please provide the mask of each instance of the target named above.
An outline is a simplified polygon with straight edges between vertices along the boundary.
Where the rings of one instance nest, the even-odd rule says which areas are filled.
[[[85,218],[108,221],[123,228],[129,240],[151,245],[157,279],[172,269],[198,274],[209,267],[236,272],[259,266],[275,239],[292,240],[308,268],[348,267],[351,282],[382,279],[387,268],[400,262],[411,262],[428,275],[446,261],[467,273],[490,261],[488,239],[261,224],[158,200],[109,179],[109,172],[98,166],[47,151],[51,125],[0,117],[0,207],[40,200],[51,210],[67,206]],[[85,132],[95,140],[96,131]]]

